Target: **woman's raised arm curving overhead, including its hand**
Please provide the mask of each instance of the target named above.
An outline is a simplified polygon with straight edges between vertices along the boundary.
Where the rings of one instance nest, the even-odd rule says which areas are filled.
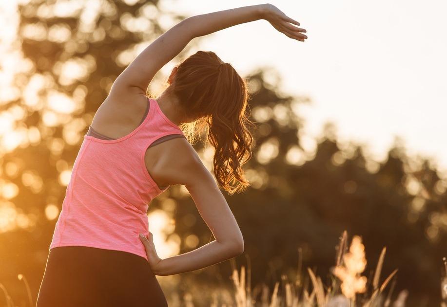
[[[291,38],[301,40],[303,35],[299,32],[306,32],[293,26],[291,23],[299,25],[299,22],[287,17],[272,4],[244,6],[189,17],[159,36],[138,54],[117,77],[110,94],[123,98],[132,93],[145,94],[155,73],[179,54],[194,37],[258,19],[268,20],[275,29]]]

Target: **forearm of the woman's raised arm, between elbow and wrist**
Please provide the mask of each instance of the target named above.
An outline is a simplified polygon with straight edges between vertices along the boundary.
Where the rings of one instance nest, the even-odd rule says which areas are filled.
[[[229,10],[217,11],[208,14],[196,15],[186,18],[187,28],[191,37],[208,35],[241,23],[255,21],[263,18],[264,5],[243,6]]]

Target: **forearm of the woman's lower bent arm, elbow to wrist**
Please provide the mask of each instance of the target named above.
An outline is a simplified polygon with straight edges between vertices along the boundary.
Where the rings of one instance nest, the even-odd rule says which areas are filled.
[[[165,276],[195,271],[231,259],[238,254],[240,251],[236,247],[232,248],[214,240],[194,251],[162,259],[154,273]]]

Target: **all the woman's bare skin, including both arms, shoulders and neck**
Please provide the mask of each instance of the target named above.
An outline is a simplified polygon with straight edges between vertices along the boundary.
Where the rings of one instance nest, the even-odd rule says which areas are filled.
[[[117,77],[108,97],[98,108],[92,127],[99,133],[120,138],[136,129],[145,113],[146,90],[166,63],[195,37],[205,36],[237,24],[265,19],[284,35],[304,41],[299,22],[287,17],[272,4],[260,4],[186,18],[159,36]],[[175,77],[176,67],[168,82]],[[178,100],[163,92],[155,98],[161,111],[176,125],[194,121],[183,118]],[[156,275],[194,271],[231,259],[244,251],[239,226],[213,175],[204,166],[194,147],[184,138],[175,138],[150,147],[145,153],[149,173],[159,186],[183,184],[215,240],[191,252],[161,259],[153,235],[140,235],[148,261]]]

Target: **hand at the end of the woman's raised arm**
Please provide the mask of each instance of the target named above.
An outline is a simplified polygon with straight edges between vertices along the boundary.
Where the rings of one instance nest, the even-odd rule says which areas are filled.
[[[307,38],[305,34],[301,33],[306,32],[305,29],[292,25],[299,26],[300,23],[298,21],[288,17],[273,4],[267,3],[263,4],[263,6],[263,19],[269,21],[276,30],[299,41],[304,41]]]

